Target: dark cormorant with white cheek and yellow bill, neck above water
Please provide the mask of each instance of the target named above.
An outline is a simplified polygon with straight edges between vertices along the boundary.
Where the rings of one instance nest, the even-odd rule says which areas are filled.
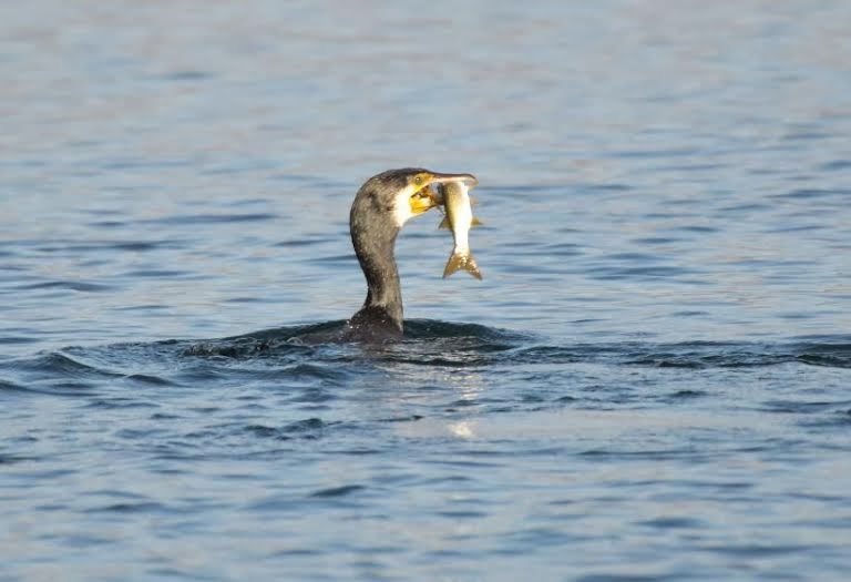
[[[393,248],[404,223],[441,201],[432,184],[478,184],[471,174],[441,174],[421,167],[388,170],[367,180],[351,204],[349,231],[367,278],[363,307],[349,319],[346,339],[379,341],[402,337],[402,290]]]

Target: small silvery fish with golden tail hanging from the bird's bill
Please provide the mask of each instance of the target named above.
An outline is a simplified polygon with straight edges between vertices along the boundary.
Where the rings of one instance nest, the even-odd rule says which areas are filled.
[[[452,238],[455,242],[447,267],[443,269],[443,278],[449,277],[455,270],[464,269],[481,280],[482,273],[479,270],[479,265],[475,264],[472,251],[470,251],[469,233],[470,228],[482,223],[473,216],[470,187],[464,182],[447,182],[439,184],[438,191],[447,211],[447,215],[438,228],[451,229]]]

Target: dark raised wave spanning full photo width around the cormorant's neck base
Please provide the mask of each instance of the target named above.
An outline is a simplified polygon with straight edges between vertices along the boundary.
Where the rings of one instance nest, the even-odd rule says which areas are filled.
[[[760,368],[783,365],[851,368],[851,336],[779,341],[570,343],[478,324],[413,319],[403,340],[336,341],[345,320],[262,329],[208,340],[168,339],[68,347],[0,361],[0,395],[90,394],[116,382],[134,388],[193,386],[209,379],[288,378],[346,385],[376,365],[480,368],[597,364],[644,368]]]

